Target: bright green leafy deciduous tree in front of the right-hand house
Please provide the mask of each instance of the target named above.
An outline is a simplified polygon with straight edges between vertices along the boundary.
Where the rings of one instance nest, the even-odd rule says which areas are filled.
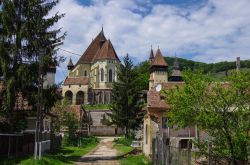
[[[184,73],[185,85],[165,91],[171,105],[168,114],[179,127],[197,125],[208,134],[208,141],[196,145],[207,155],[226,157],[236,165],[246,163],[250,155],[250,72],[233,72],[225,82],[213,82],[201,73]]]

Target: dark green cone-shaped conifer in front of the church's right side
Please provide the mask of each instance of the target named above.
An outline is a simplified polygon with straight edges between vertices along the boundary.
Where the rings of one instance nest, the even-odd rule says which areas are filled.
[[[131,130],[140,127],[143,119],[141,111],[143,103],[139,101],[137,85],[138,74],[127,55],[123,59],[117,72],[117,82],[113,83],[111,111],[108,114],[113,124],[125,128],[125,136],[128,137]]]

